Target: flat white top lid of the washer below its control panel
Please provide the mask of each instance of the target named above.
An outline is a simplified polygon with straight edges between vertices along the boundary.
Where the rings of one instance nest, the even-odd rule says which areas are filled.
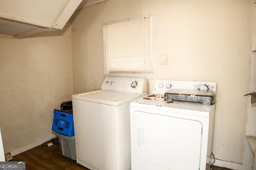
[[[98,90],[82,94],[74,94],[72,95],[72,99],[118,106],[120,104],[130,102],[146,95],[147,93],[138,94],[128,92],[116,92],[111,90]]]

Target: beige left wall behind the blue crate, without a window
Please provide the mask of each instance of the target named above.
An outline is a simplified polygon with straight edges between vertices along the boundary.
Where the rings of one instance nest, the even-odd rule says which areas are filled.
[[[72,100],[70,22],[47,37],[0,37],[0,127],[10,152],[52,134],[54,109]]]

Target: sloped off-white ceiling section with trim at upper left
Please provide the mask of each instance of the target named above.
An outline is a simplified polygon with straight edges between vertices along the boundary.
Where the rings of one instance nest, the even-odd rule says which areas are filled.
[[[106,0],[0,0],[0,37],[62,29],[75,10]]]

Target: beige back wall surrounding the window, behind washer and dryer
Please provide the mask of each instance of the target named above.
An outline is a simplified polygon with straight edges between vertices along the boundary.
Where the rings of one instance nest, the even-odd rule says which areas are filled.
[[[107,0],[72,16],[74,92],[100,89],[102,25],[153,15],[153,71],[148,80],[217,82],[213,152],[242,163],[250,76],[252,0]],[[167,54],[168,65],[161,65]],[[188,139],[189,140],[189,139]]]

